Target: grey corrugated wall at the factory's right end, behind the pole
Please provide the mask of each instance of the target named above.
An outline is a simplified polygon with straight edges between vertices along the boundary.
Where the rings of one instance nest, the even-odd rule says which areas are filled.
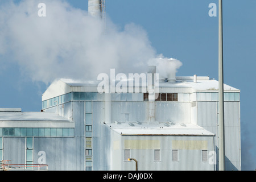
[[[218,134],[216,101],[198,101],[197,117],[199,126]],[[224,117],[226,170],[241,170],[240,102],[224,102]],[[215,143],[218,146],[217,137]]]

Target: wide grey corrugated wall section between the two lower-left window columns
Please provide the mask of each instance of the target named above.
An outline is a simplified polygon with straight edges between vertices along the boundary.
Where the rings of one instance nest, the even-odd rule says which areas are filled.
[[[84,139],[71,138],[34,138],[34,163],[38,163],[39,151],[46,154],[49,171],[84,170]]]

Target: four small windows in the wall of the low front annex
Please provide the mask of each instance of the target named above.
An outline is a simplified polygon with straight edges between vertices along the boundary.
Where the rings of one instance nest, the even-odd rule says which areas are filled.
[[[130,150],[124,151],[125,161],[131,158]],[[160,150],[154,150],[154,161],[161,161]],[[172,162],[179,162],[179,150],[172,150]],[[201,150],[201,162],[208,162],[208,150]]]

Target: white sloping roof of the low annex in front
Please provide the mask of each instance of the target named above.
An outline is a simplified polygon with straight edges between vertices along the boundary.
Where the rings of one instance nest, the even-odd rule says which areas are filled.
[[[203,127],[193,125],[192,123],[115,122],[106,125],[120,135],[214,135]]]

